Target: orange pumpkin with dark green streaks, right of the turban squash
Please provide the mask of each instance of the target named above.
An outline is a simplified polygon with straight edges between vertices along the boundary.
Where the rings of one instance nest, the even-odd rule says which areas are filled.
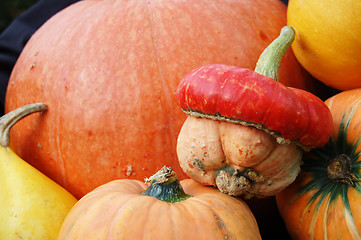
[[[293,239],[360,239],[360,102],[361,89],[343,91],[325,101],[333,117],[330,142],[311,152],[296,181],[276,196]],[[328,168],[340,155],[350,158],[352,175],[331,180]]]

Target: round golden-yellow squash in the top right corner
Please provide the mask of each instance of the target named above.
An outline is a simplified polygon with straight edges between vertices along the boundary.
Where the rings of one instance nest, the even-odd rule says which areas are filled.
[[[360,0],[288,3],[287,25],[298,35],[293,52],[309,73],[330,87],[361,87],[360,16]]]

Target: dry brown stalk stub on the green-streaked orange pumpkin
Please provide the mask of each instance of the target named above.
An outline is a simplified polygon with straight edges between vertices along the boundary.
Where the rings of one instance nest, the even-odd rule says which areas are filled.
[[[361,181],[351,172],[351,159],[346,154],[341,154],[330,161],[327,176],[334,182],[350,187],[355,187],[356,182]]]

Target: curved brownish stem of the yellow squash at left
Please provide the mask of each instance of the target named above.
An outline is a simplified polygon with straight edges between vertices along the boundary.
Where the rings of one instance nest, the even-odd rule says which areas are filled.
[[[29,104],[17,108],[0,118],[0,145],[4,148],[9,146],[10,141],[10,128],[17,123],[20,119],[35,112],[47,110],[44,103]]]

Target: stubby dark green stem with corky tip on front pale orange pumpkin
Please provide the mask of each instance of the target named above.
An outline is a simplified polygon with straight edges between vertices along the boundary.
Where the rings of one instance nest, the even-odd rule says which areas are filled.
[[[146,181],[150,182],[150,186],[142,193],[143,196],[155,197],[168,203],[180,202],[191,197],[184,192],[170,167],[163,167]]]

